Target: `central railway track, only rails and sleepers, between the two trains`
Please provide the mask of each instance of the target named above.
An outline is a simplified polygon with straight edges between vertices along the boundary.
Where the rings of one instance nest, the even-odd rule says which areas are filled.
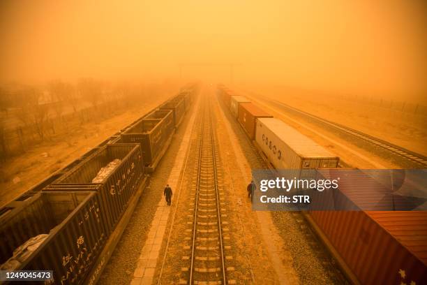
[[[221,220],[223,192],[218,183],[218,149],[209,105],[204,105],[202,114],[197,179],[192,193],[195,203],[188,284],[227,284],[224,239],[229,237],[223,233],[226,222]]]

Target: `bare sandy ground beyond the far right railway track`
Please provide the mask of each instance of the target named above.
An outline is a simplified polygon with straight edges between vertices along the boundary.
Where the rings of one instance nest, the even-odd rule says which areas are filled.
[[[304,93],[284,88],[259,89],[247,93],[274,98],[310,114],[427,155],[425,115],[381,108],[369,104],[368,100],[350,101],[340,96],[327,96],[316,92]]]

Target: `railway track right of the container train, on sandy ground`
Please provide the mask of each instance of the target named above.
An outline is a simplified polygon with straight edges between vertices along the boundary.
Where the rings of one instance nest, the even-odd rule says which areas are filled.
[[[405,149],[404,147],[400,147],[398,145],[394,145],[391,142],[387,142],[385,140],[381,140],[380,138],[375,138],[374,136],[370,136],[366,133],[363,133],[361,131],[357,131],[355,129],[349,128],[348,126],[344,126],[342,124],[338,124],[336,122],[331,122],[327,119],[323,119],[321,117],[317,117],[315,115],[312,115],[308,112],[304,112],[302,110],[299,110],[297,108],[291,107],[290,105],[287,105],[285,103],[281,103],[277,100],[271,100],[264,98],[264,100],[269,101],[270,103],[273,103],[274,105],[278,105],[281,109],[286,110],[287,112],[291,112],[293,114],[307,117],[309,119],[312,119],[313,121],[327,125],[331,127],[332,129],[335,129],[336,131],[340,131],[341,133],[346,133],[347,135],[353,136],[355,138],[358,138],[359,140],[363,140],[364,142],[368,142],[370,145],[375,145],[376,147],[380,147],[381,149],[384,149],[387,152],[390,152],[391,154],[400,157],[401,159],[405,159],[405,161],[410,162],[410,164],[414,168],[426,168],[427,167],[427,157],[418,154],[416,152],[412,152],[409,149]]]

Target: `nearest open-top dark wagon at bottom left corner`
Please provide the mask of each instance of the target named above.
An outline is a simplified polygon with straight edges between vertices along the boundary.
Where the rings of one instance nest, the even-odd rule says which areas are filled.
[[[82,284],[107,236],[96,193],[39,192],[0,224],[2,268],[53,270],[54,284]],[[28,247],[30,239],[39,240]]]

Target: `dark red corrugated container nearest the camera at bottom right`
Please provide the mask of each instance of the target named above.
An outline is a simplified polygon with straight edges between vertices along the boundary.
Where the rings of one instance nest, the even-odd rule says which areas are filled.
[[[399,209],[405,202],[361,170],[331,169],[322,174],[327,179],[341,178],[341,197],[334,201],[338,210],[310,211],[309,217],[357,282],[426,284],[427,212],[391,211],[390,207],[388,211],[364,211],[373,205],[375,209],[383,205]],[[379,193],[388,193],[389,201]],[[344,210],[350,208],[359,210]]]

